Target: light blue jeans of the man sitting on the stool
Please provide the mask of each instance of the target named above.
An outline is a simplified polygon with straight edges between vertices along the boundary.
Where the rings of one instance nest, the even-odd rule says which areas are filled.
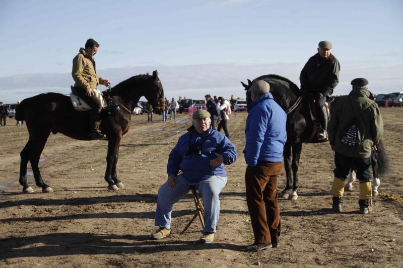
[[[174,188],[164,183],[158,190],[157,210],[155,212],[155,226],[171,228],[172,206],[184,197],[190,186],[195,186],[203,197],[205,207],[205,232],[216,232],[220,216],[220,199],[218,195],[227,184],[227,177],[211,176],[195,184],[189,184],[183,174],[178,175]]]

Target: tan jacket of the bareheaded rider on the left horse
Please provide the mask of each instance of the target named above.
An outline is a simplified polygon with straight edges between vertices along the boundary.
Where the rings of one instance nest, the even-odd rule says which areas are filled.
[[[80,48],[79,54],[73,59],[72,76],[76,82],[74,86],[90,91],[103,84],[104,79],[97,75],[94,59],[87,54],[84,48]]]

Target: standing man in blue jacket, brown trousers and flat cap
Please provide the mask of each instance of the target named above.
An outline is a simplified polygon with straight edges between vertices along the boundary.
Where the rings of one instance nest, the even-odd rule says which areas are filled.
[[[248,106],[243,153],[248,165],[245,171],[246,202],[255,240],[244,250],[259,251],[279,246],[277,177],[283,166],[287,115],[273,99],[267,82],[256,81],[249,91],[252,103]]]

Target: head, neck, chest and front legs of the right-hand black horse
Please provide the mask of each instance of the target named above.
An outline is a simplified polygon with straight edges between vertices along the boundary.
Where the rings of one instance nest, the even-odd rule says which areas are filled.
[[[308,95],[301,92],[299,87],[289,79],[276,75],[262,75],[250,81],[248,84],[241,82],[246,90],[247,104],[251,103],[251,94],[248,91],[252,84],[258,80],[264,80],[270,84],[270,93],[275,101],[287,113],[287,141],[284,145],[284,168],[286,170],[287,183],[281,196],[292,200],[297,200],[298,189],[298,165],[301,156],[302,143],[317,143],[314,135],[314,127],[317,126],[312,120],[309,110]],[[291,158],[292,156],[292,158]],[[291,187],[291,170],[293,173],[293,183]],[[292,190],[292,194],[290,192]]]

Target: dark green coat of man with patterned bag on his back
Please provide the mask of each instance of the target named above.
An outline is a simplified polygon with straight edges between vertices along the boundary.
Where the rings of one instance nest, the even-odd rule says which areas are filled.
[[[353,90],[348,96],[340,97],[332,106],[327,131],[330,145],[336,152],[350,157],[370,157],[371,148],[381,139],[382,117],[378,105],[369,98],[370,94],[368,90]],[[361,144],[356,148],[340,141],[340,132],[351,124],[354,117],[358,118],[359,129],[363,136]]]

